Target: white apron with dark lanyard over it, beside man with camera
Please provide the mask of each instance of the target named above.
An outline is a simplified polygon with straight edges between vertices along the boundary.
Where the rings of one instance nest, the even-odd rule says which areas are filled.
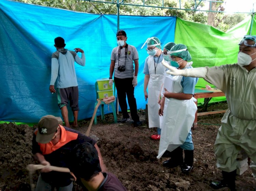
[[[148,102],[147,102],[147,109],[148,109],[148,127],[158,127],[160,126],[160,118],[162,116],[158,115],[159,104],[158,96],[160,93],[160,89],[162,83],[165,79],[165,71],[166,67],[163,66],[161,63],[156,64],[154,60],[154,56],[149,56],[147,60],[148,71],[150,74],[150,79],[148,81],[147,89],[148,89]]]

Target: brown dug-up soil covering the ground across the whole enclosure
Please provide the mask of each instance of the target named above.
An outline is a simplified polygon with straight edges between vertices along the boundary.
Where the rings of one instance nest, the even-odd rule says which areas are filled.
[[[208,107],[208,111],[226,108],[226,103],[219,103]],[[156,158],[159,141],[150,139],[156,129],[146,126],[144,110],[139,110],[143,122],[140,127],[134,127],[131,122],[114,124],[112,115],[105,116],[104,121],[98,117],[98,124],[92,126],[90,135],[99,138],[98,145],[108,171],[115,174],[127,190],[205,191],[212,190],[209,187],[212,180],[222,178],[221,171],[216,168],[213,145],[223,114],[198,117],[198,126],[192,129],[194,169],[189,174],[183,174],[179,167],[163,167],[162,162],[168,158]],[[119,114],[118,119],[121,118]],[[80,121],[76,130],[85,134],[89,122],[90,119]],[[37,163],[31,154],[35,128],[13,123],[0,124],[0,191],[30,190],[26,166]],[[33,174],[34,184],[38,175],[39,171]],[[256,188],[250,169],[237,176],[236,185],[238,191]],[[74,184],[73,190],[81,190],[81,187]]]

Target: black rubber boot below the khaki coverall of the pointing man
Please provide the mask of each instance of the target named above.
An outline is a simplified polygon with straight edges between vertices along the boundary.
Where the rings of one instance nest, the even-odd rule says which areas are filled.
[[[237,170],[234,170],[232,172],[222,171],[222,175],[223,175],[223,180],[218,182],[212,182],[210,186],[213,189],[221,189],[221,188],[228,187],[231,191],[236,191],[235,180],[236,180]]]

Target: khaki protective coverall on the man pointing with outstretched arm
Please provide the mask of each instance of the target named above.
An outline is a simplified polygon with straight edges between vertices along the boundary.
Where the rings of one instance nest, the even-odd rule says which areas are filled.
[[[222,90],[228,110],[222,118],[214,144],[217,168],[237,169],[237,154],[242,149],[252,159],[256,176],[256,68],[250,72],[238,64],[206,67],[204,80]]]

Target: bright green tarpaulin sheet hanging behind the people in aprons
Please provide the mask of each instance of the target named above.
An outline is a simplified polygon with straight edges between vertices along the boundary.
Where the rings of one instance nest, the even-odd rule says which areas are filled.
[[[251,16],[249,16],[225,33],[210,25],[177,18],[174,42],[187,46],[194,68],[234,64],[237,62],[238,43],[245,34],[249,34],[251,20]],[[256,31],[254,34],[256,34]],[[207,84],[211,85],[203,79],[199,79],[196,88],[205,88]],[[225,97],[216,97],[212,98],[211,102],[225,100]],[[203,104],[203,98],[198,99],[198,105],[201,104]]]

